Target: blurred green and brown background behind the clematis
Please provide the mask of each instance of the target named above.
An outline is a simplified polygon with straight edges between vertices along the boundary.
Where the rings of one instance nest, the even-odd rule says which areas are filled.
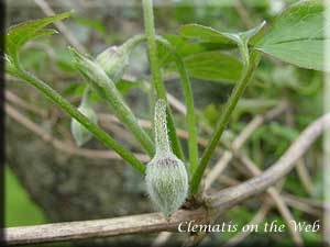
[[[175,40],[182,24],[198,23],[220,31],[245,31],[263,20],[268,24],[288,4],[295,2],[257,0],[160,0],[155,1],[157,33]],[[111,45],[119,45],[134,34],[143,33],[140,0],[25,0],[7,1],[7,27],[47,14],[75,10],[64,22],[59,34],[30,42],[21,53],[25,68],[46,81],[75,105],[86,87],[73,68],[67,46],[76,46],[91,56]],[[237,50],[230,54],[238,57]],[[196,108],[198,132],[208,138],[231,89],[234,76],[226,75],[215,50],[207,54],[206,64],[187,57]],[[165,59],[165,58],[164,58]],[[191,61],[191,60],[190,60]],[[170,67],[170,66],[169,66]],[[207,68],[207,69],[206,69]],[[165,69],[166,87],[175,99],[176,126],[185,138],[185,117],[180,112],[183,94],[180,82],[173,69]],[[228,72],[227,72],[228,74]],[[148,63],[145,47],[139,46],[132,56],[125,81],[119,86],[130,106],[141,120],[150,120],[146,83]],[[118,159],[111,150],[96,139],[77,148],[70,135],[67,115],[37,91],[7,77],[7,162],[6,168],[6,225],[21,226],[42,223],[114,217],[155,211],[144,189],[143,178]],[[111,109],[95,96],[95,109],[100,125],[132,151],[141,154],[139,144],[113,120]],[[275,116],[270,111],[279,111]],[[231,143],[246,124],[261,117],[262,123],[241,148],[258,166],[266,169],[287,149],[290,142],[309,123],[322,114],[322,74],[283,64],[264,57],[252,85],[239,102],[231,119],[224,141]],[[202,151],[202,142],[200,151]],[[213,157],[212,166],[218,164]],[[318,142],[299,160],[297,169],[277,184],[282,199],[288,204],[296,221],[314,223],[322,215],[322,150]],[[251,175],[232,160],[211,189],[221,189],[244,181]],[[255,218],[256,217],[256,218]],[[219,222],[233,221],[239,225],[257,220],[260,224],[285,221],[272,200],[257,197],[226,213]],[[310,245],[320,243],[321,232],[300,233]],[[234,237],[234,233],[211,234],[206,243],[220,245]],[[157,234],[136,237],[97,239],[94,244],[140,243],[151,244]],[[174,234],[169,242],[178,243],[185,235]],[[293,244],[287,232],[280,234],[254,233],[241,239],[248,244]],[[92,242],[88,240],[87,243]],[[86,242],[67,245],[86,244]]]

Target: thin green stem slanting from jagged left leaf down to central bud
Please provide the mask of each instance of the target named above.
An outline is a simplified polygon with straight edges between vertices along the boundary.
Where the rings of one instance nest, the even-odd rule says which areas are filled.
[[[145,166],[136,159],[129,150],[122,147],[117,141],[101,130],[97,124],[90,122],[84,114],[81,114],[75,106],[73,106],[67,100],[65,100],[58,92],[52,89],[44,81],[34,77],[30,72],[19,69],[15,71],[15,76],[19,76],[22,80],[29,82],[41,91],[44,96],[51,99],[55,104],[57,104],[63,111],[68,113],[72,117],[77,120],[81,125],[84,125],[88,131],[90,131],[100,142],[106,146],[113,149],[119,154],[125,161],[128,161],[132,167],[138,169],[142,175],[145,172]]]

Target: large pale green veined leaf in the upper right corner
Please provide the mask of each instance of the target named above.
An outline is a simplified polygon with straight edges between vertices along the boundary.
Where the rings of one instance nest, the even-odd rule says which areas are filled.
[[[288,8],[255,47],[296,66],[324,70],[324,7],[321,1],[299,2]]]

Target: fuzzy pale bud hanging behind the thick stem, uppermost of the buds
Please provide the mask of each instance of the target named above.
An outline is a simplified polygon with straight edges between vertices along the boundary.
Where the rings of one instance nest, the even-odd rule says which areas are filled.
[[[119,81],[129,66],[130,52],[127,46],[111,46],[96,58],[107,75],[114,81]]]

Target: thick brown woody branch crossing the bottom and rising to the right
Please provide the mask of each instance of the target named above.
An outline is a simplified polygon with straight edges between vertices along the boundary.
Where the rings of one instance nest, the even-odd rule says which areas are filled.
[[[220,214],[251,195],[267,189],[293,169],[297,159],[326,128],[330,128],[330,114],[321,116],[309,125],[278,161],[262,175],[239,186],[210,194],[207,198],[207,204]],[[154,213],[100,221],[10,227],[4,229],[4,239],[7,244],[14,245],[175,231],[180,222],[193,220],[207,222],[208,216],[210,215],[205,210],[198,209],[178,211],[169,222],[166,222],[161,214]]]

